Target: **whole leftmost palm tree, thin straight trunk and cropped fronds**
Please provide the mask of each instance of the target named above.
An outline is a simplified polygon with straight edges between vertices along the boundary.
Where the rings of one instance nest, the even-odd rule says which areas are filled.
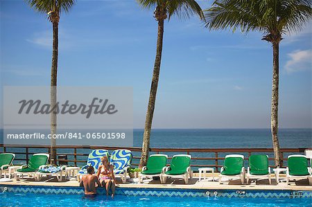
[[[75,0],[26,0],[26,2],[36,10],[48,15],[53,26],[53,53],[51,66],[51,90],[50,90],[50,105],[56,104],[56,86],[58,80],[58,23],[60,21],[61,12],[68,12]],[[51,113],[51,137],[56,134],[56,111]],[[56,140],[51,138],[51,162],[56,163]]]

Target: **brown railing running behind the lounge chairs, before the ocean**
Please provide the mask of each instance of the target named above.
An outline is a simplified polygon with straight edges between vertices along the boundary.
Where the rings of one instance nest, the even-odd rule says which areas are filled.
[[[91,150],[105,149],[105,150],[118,150],[127,149],[131,150],[133,154],[132,166],[139,165],[141,158],[141,147],[105,147],[105,146],[83,146],[83,145],[62,145],[56,146],[57,157],[65,155],[67,159],[57,159],[58,162],[73,163],[73,165],[83,165],[86,163],[87,156]],[[303,154],[304,150],[309,148],[282,148],[281,158],[285,162],[288,154]],[[310,149],[311,150],[311,149]],[[0,145],[0,152],[12,152],[16,154],[15,161],[26,161],[30,159],[32,154],[38,152],[50,153],[49,145]],[[274,156],[272,148],[150,148],[150,154],[168,154],[168,159],[171,159],[173,154],[191,154],[193,168],[215,168],[218,172],[222,167],[223,160],[226,154],[244,154],[245,160],[248,160],[251,154],[268,154],[270,167],[274,166]],[[64,156],[63,156],[64,157]],[[245,162],[246,163],[246,162]]]

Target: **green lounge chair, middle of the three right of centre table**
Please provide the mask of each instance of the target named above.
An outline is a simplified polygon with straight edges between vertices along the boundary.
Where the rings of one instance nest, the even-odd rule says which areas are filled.
[[[268,179],[271,184],[271,169],[268,165],[268,155],[266,154],[253,154],[249,157],[249,166],[247,168],[246,179]]]

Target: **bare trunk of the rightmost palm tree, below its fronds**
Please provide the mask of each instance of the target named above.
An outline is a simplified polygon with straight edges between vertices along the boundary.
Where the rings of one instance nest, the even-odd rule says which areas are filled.
[[[273,78],[272,78],[272,102],[271,102],[271,133],[275,157],[275,166],[282,166],[279,151],[278,131],[278,105],[279,105],[279,43],[273,42]]]

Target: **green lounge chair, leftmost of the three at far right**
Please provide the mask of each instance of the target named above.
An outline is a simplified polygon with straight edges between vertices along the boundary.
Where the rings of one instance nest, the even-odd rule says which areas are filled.
[[[225,156],[224,165],[220,170],[219,183],[222,179],[241,179],[241,183],[245,180],[244,156],[241,154],[228,154]]]

